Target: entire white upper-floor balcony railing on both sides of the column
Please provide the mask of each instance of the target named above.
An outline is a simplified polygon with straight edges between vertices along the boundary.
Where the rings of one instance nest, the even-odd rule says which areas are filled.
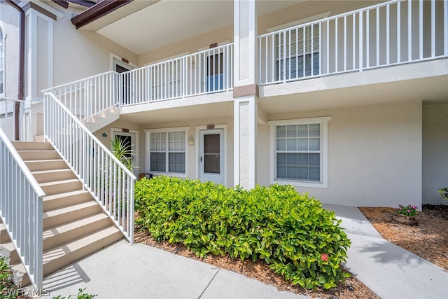
[[[52,92],[80,120],[89,120],[114,106],[228,92],[233,88],[233,55],[233,44],[228,43],[45,92]],[[392,0],[258,36],[258,84],[290,83],[445,57],[448,0]],[[442,72],[447,75],[446,70]],[[261,97],[272,95],[280,93],[274,90]]]

